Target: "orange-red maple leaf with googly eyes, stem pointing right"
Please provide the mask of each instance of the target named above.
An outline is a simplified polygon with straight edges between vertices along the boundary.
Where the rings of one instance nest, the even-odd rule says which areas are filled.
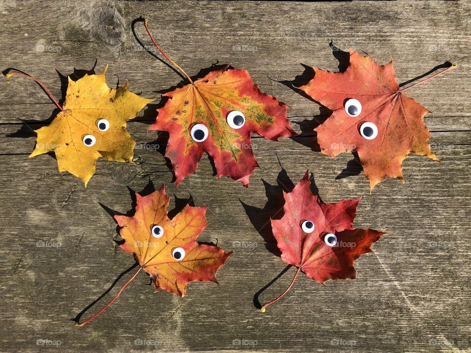
[[[429,110],[403,93],[434,76],[400,89],[392,62],[380,66],[354,50],[344,72],[314,71],[300,89],[333,111],[314,129],[321,151],[331,157],[357,151],[371,189],[386,177],[404,182],[402,161],[411,152],[439,161],[423,121]]]

